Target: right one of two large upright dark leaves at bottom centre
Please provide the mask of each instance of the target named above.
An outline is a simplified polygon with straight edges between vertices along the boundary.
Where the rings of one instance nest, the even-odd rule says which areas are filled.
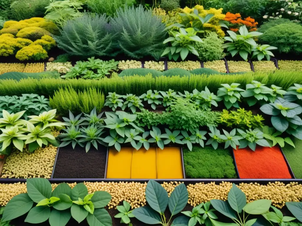
[[[171,193],[171,196],[169,198],[168,206],[169,210],[173,215],[178,214],[181,212],[188,202],[188,190],[185,184],[179,184],[173,192]]]

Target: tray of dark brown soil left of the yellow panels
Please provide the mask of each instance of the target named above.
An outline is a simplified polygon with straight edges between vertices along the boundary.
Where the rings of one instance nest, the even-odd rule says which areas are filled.
[[[106,158],[107,147],[101,145],[87,153],[80,146],[59,148],[53,178],[104,178]]]

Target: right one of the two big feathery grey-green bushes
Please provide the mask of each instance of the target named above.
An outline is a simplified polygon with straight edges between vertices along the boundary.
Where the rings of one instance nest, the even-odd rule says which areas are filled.
[[[167,32],[160,18],[152,15],[143,6],[117,10],[110,22],[113,33],[119,37],[118,48],[133,58],[153,56],[163,48]]]

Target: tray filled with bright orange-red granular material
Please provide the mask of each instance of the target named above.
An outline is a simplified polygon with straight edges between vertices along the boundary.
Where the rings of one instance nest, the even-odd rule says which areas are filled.
[[[256,147],[255,152],[243,148],[234,150],[239,177],[244,179],[288,179],[291,174],[278,146]]]

